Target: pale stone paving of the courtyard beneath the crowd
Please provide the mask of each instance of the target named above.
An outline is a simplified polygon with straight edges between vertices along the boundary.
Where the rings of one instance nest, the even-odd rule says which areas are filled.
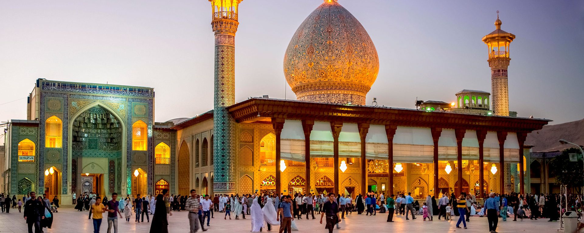
[[[61,207],[58,213],[55,213],[53,221],[53,228],[45,230],[47,233],[63,232],[93,232],[93,222],[88,220],[88,211],[75,211],[72,207]],[[105,215],[105,214],[104,214]],[[134,216],[133,216],[134,217]],[[150,216],[152,217],[152,216]],[[296,220],[299,231],[302,232],[328,232],[324,229],[324,225],[319,224],[319,216],[315,216],[315,220]],[[485,217],[471,217],[468,223],[468,229],[457,229],[456,222],[452,221],[422,221],[422,216],[418,216],[416,220],[405,220],[405,217],[398,216],[394,218],[395,223],[387,223],[387,214],[377,214],[377,216],[365,216],[365,214],[352,214],[345,218],[342,223],[342,229],[335,230],[335,232],[488,232],[488,225]],[[499,218],[500,219],[500,218]],[[150,230],[150,223],[134,223],[134,219],[130,223],[126,223],[124,219],[119,219],[119,232],[148,232]],[[506,222],[499,221],[498,232],[557,232],[559,228],[558,222],[548,222],[546,220],[523,220]],[[189,232],[189,223],[187,221],[187,213],[185,211],[173,212],[170,217],[169,232],[187,233]],[[251,230],[251,221],[248,217],[245,220],[223,220],[223,215],[217,213],[215,218],[211,218],[211,227],[207,232],[217,233],[234,233],[234,232],[249,232]],[[100,232],[107,231],[107,223],[104,220]],[[25,220],[22,213],[18,210],[11,209],[11,213],[0,213],[0,232],[27,232]],[[113,231],[112,231],[113,232]],[[277,232],[277,230],[276,230]],[[296,231],[295,231],[296,232]],[[562,231],[563,232],[563,231]]]

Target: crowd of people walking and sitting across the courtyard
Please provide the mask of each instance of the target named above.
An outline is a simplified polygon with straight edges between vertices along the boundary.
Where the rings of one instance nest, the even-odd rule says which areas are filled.
[[[169,194],[167,189],[162,190],[157,196],[135,196],[119,198],[113,193],[110,199],[100,196],[98,193],[82,193],[77,196],[73,193],[73,203],[78,211],[88,211],[89,219],[93,220],[94,232],[99,232],[102,223],[102,214],[107,212],[107,232],[113,229],[117,233],[117,218],[125,218],[130,223],[132,216],[135,223],[150,222],[150,232],[168,232],[168,218],[173,211],[188,211],[190,232],[207,231],[210,227],[210,219],[214,214],[220,214],[224,220],[228,218],[245,219],[251,217],[252,232],[272,231],[279,225],[279,233],[297,230],[294,220],[314,220],[315,214],[321,215],[321,224],[325,223],[326,229],[332,232],[340,228],[340,221],[345,216],[353,213],[366,216],[376,216],[377,213],[388,213],[387,222],[394,222],[395,216],[405,216],[405,220],[415,220],[422,215],[423,221],[433,221],[434,216],[438,220],[443,218],[450,221],[458,216],[457,228],[467,228],[471,216],[488,218],[489,231],[496,232],[498,221],[507,221],[513,215],[512,221],[529,218],[538,220],[547,218],[548,221],[557,221],[559,216],[568,210],[576,210],[581,213],[581,195],[544,195],[540,193],[528,193],[519,195],[499,195],[489,193],[483,202],[477,200],[475,195],[455,193],[442,194],[436,199],[428,195],[426,199],[414,199],[411,193],[398,193],[388,195],[385,193],[369,192],[365,195],[357,195],[353,200],[351,195],[335,195],[334,193],[295,193],[293,196],[280,193],[253,193],[246,195],[197,195],[196,190],[191,190],[189,196]],[[119,199],[119,200],[118,200]],[[420,204],[422,203],[422,204]],[[57,196],[49,200],[46,195],[36,196],[30,192],[22,199],[15,195],[0,194],[0,206],[2,212],[9,213],[10,209],[18,206],[19,212],[24,207],[24,217],[28,224],[29,232],[43,232],[44,228],[51,228],[53,213],[57,212],[59,199]],[[159,210],[159,211],[156,211]],[[529,211],[529,215],[527,214]],[[411,216],[411,218],[410,218]],[[323,218],[325,221],[323,222]],[[462,226],[461,226],[462,225]],[[207,228],[206,228],[207,227]]]

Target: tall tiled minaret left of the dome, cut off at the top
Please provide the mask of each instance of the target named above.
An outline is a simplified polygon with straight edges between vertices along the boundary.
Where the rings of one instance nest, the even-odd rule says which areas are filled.
[[[227,107],[235,104],[235,32],[243,0],[209,0],[215,32],[213,105],[213,192],[235,192],[235,121]]]

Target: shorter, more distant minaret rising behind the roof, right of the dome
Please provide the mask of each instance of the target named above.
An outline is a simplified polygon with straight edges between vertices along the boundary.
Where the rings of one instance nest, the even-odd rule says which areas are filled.
[[[491,67],[491,103],[494,115],[509,116],[509,86],[507,67],[509,66],[509,44],[515,35],[501,30],[499,10],[495,21],[495,31],[482,37],[489,47],[489,66]]]

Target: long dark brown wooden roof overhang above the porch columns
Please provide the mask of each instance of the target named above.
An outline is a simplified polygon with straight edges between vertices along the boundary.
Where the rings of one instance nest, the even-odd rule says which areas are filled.
[[[254,97],[227,108],[238,123],[270,123],[272,118],[340,121],[448,129],[531,132],[550,119],[485,116],[459,112],[426,112],[406,108],[357,106]]]

